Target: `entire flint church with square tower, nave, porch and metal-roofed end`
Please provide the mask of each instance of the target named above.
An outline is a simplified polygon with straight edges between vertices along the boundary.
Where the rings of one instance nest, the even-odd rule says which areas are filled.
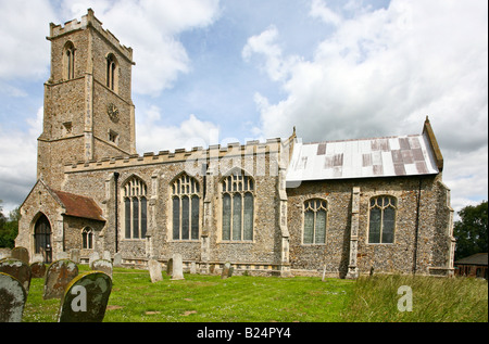
[[[50,24],[37,182],[16,245],[45,262],[79,250],[127,266],[180,254],[212,273],[356,278],[453,275],[443,157],[421,133],[304,143],[287,139],[136,152],[133,50],[92,10]]]

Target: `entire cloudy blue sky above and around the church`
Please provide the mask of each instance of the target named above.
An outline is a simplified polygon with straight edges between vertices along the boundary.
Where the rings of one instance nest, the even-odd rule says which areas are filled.
[[[455,211],[487,200],[488,15],[480,0],[0,0],[0,200],[36,181],[49,23],[91,8],[134,49],[137,150],[419,133]]]

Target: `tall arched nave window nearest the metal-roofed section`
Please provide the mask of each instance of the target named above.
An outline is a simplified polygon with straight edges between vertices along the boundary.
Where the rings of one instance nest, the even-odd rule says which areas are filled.
[[[252,241],[254,220],[254,181],[235,171],[222,181],[223,240]]]

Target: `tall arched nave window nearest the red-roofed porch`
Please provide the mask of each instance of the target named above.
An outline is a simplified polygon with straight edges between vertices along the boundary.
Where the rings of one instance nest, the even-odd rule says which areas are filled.
[[[138,177],[124,184],[125,238],[145,239],[148,229],[148,188]]]

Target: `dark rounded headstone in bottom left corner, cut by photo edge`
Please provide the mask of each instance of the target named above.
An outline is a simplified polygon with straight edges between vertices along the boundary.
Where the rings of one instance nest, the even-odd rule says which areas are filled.
[[[27,293],[14,277],[0,272],[0,322],[21,322]]]

